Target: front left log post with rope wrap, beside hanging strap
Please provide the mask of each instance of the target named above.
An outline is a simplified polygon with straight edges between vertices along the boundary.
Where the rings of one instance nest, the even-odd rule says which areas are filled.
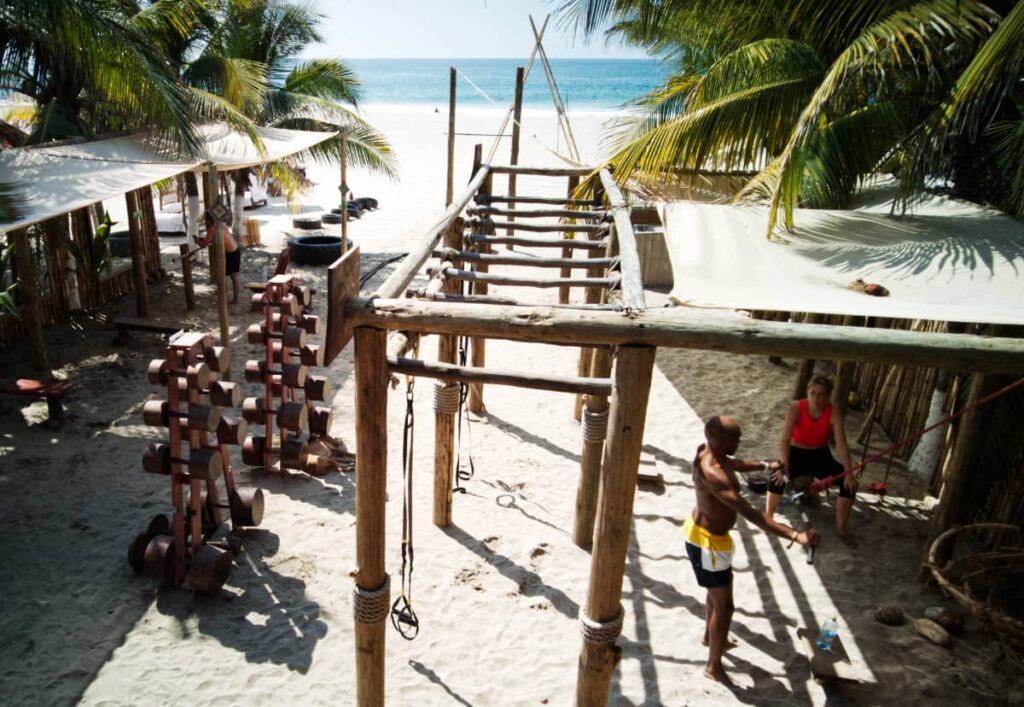
[[[382,589],[385,499],[387,496],[387,333],[355,330],[355,585]],[[387,599],[385,604],[389,606]],[[377,617],[373,617],[377,618]],[[355,621],[355,702],[384,704],[384,638],[387,610],[380,620]]]

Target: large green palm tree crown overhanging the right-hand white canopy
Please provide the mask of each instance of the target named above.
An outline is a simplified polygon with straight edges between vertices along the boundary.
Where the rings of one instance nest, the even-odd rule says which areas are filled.
[[[1010,5],[1002,19],[968,0],[569,0],[560,12],[587,36],[603,30],[675,67],[617,126],[617,178],[743,174],[739,197],[770,200],[771,233],[779,214],[792,226],[798,203],[846,205],[879,171],[901,176],[903,205],[928,178],[966,184],[986,156],[997,165],[1005,155],[978,150],[979,137],[1024,152],[1011,99],[1022,11]],[[1018,171],[1018,195],[1022,182]]]

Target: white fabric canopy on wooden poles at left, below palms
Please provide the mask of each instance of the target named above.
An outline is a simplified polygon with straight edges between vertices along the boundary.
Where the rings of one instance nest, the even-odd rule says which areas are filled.
[[[337,133],[257,128],[264,152],[226,124],[199,128],[204,155],[198,160],[159,150],[142,135],[0,152],[0,182],[13,183],[23,216],[0,223],[0,233],[140,189],[212,162],[217,169],[241,169],[300,153]]]

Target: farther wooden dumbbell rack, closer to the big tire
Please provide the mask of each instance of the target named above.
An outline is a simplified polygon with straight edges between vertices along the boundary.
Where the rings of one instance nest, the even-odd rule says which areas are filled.
[[[263,347],[263,358],[246,362],[245,375],[263,383],[263,397],[247,398],[242,409],[246,420],[263,425],[263,434],[250,435],[243,445],[242,458],[250,466],[305,469],[308,442],[331,429],[331,408],[317,405],[330,396],[331,380],[309,375],[310,368],[324,365],[323,347],[307,342],[322,330],[319,317],[309,314],[311,299],[309,288],[290,275],[274,276],[253,295],[264,319],[249,327],[247,339]]]

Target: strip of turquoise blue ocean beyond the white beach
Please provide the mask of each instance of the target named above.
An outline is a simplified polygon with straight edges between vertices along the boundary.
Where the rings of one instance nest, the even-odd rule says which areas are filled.
[[[506,110],[515,94],[517,58],[346,59],[362,83],[364,106],[429,106],[446,111],[449,73],[458,71],[460,107]],[[667,73],[654,59],[550,59],[569,112],[614,112],[657,86]],[[523,108],[553,110],[544,67],[534,63]]]

